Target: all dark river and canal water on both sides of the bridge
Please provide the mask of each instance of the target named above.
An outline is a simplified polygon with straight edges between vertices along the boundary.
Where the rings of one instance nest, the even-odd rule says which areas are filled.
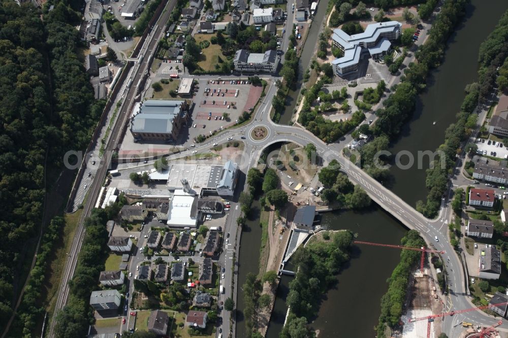
[[[322,0],[316,17],[325,15],[327,0]],[[419,150],[434,151],[443,142],[444,130],[455,120],[464,98],[464,87],[477,77],[478,48],[492,31],[502,13],[508,8],[504,0],[489,2],[472,0],[467,8],[463,24],[449,41],[446,58],[429,77],[428,88],[420,95],[418,108],[403,129],[399,140],[392,144],[391,152],[408,150],[417,154]],[[317,40],[319,25],[314,24],[309,32],[308,46],[301,57],[299,74],[303,74],[310,61],[314,41]],[[301,78],[299,77],[300,87]],[[281,117],[280,123],[289,123],[298,93],[292,93],[292,106]],[[432,122],[436,121],[436,125]],[[416,157],[415,157],[416,158]],[[411,205],[425,199],[425,170],[412,167],[399,170],[392,167],[394,176],[392,189]],[[253,221],[251,230],[242,234],[240,249],[240,285],[247,271],[258,271],[259,243],[261,230],[259,221]],[[406,229],[378,206],[362,213],[325,213],[322,224],[331,229],[351,229],[359,234],[359,240],[377,243],[399,244]],[[245,243],[245,247],[244,247]],[[254,245],[255,244],[255,245]],[[256,246],[258,245],[258,246]],[[386,280],[399,261],[400,252],[386,248],[355,247],[353,258],[337,276],[337,285],[323,298],[319,314],[312,327],[321,331],[321,337],[344,336],[347,332],[355,337],[374,335],[374,326],[379,317],[379,300],[386,292]],[[287,312],[285,296],[291,277],[282,277],[277,291],[275,308],[268,327],[267,337],[276,338],[282,329]],[[242,309],[241,293],[238,308]],[[243,331],[242,331],[243,330]],[[242,322],[237,325],[237,337],[244,336]],[[242,334],[243,333],[243,334]]]

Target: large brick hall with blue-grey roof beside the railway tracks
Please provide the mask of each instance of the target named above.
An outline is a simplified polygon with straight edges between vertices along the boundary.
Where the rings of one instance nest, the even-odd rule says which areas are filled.
[[[146,100],[136,103],[131,117],[131,133],[136,140],[177,140],[188,118],[185,100]]]

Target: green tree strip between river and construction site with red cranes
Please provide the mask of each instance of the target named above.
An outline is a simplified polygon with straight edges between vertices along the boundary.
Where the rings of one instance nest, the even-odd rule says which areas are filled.
[[[409,230],[402,238],[401,244],[406,247],[421,248],[425,241],[416,230]],[[388,279],[388,291],[381,297],[381,315],[377,326],[377,336],[385,338],[385,324],[394,327],[402,315],[402,306],[406,299],[409,276],[418,262],[421,254],[418,251],[402,250],[400,262]]]

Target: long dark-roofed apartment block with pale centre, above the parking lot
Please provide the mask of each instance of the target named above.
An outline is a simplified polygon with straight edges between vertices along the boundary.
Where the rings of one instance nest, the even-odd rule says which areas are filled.
[[[267,50],[265,53],[250,53],[246,49],[237,50],[233,63],[235,70],[254,73],[275,73],[280,58],[274,50]]]

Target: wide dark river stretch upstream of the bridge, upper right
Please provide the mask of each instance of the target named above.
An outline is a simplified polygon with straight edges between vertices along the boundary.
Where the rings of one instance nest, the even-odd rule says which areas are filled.
[[[501,15],[508,9],[505,0],[472,0],[467,8],[463,24],[450,38],[443,63],[427,79],[428,90],[420,95],[417,109],[411,120],[402,129],[401,136],[389,151],[409,151],[415,158],[415,165],[407,170],[396,166],[390,168],[394,177],[391,190],[409,205],[425,200],[425,168],[428,158],[418,169],[418,151],[435,151],[444,141],[444,131],[455,122],[464,99],[464,88],[477,80],[478,49],[494,29]],[[433,125],[433,122],[436,122]],[[407,157],[402,157],[407,163]]]

